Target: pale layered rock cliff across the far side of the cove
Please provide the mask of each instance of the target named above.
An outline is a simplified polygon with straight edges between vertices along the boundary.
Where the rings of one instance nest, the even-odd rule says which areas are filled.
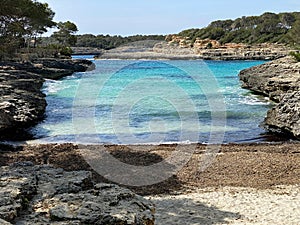
[[[150,42],[150,41],[144,41]],[[152,42],[151,42],[152,43]],[[204,59],[204,60],[270,60],[288,55],[290,49],[280,44],[245,45],[229,43],[221,45],[215,40],[196,39],[176,35],[166,41],[155,41],[153,46],[130,43],[104,51],[100,59]]]

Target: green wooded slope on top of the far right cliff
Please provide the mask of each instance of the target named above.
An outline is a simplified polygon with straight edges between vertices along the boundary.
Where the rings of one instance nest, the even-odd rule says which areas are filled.
[[[284,43],[300,46],[300,12],[264,13],[261,16],[243,16],[235,20],[218,20],[202,29],[188,29],[179,33],[189,37],[217,40],[221,43]]]

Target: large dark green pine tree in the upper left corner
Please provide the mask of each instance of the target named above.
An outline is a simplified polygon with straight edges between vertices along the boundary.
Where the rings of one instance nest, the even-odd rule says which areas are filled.
[[[53,27],[54,12],[48,4],[33,0],[1,0],[0,53],[12,54],[25,45],[25,39],[36,37]]]

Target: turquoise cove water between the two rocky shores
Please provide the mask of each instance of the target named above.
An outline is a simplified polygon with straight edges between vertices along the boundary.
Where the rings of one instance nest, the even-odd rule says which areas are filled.
[[[238,73],[263,61],[95,61],[96,70],[46,81],[37,141],[169,143],[263,141],[268,100]]]

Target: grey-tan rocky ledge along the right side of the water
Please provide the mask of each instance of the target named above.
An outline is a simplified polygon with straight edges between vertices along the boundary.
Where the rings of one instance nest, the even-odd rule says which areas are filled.
[[[300,62],[285,57],[245,69],[239,76],[242,87],[278,103],[269,110],[262,126],[300,139]]]

